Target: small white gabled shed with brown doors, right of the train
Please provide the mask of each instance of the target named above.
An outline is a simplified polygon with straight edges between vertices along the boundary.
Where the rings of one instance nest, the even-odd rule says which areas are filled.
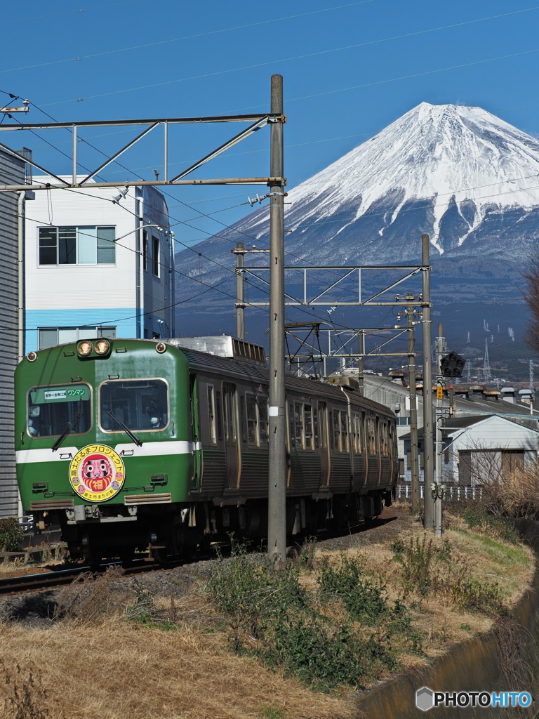
[[[405,442],[405,481],[411,482],[410,434]],[[423,429],[418,433],[423,446]],[[494,478],[507,477],[530,467],[538,458],[539,431],[496,414],[456,417],[442,429],[442,479],[444,484],[473,487]],[[423,482],[423,462],[420,462]]]

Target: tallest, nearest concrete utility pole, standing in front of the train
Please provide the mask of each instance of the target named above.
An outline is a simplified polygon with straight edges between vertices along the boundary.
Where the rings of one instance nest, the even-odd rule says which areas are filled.
[[[272,75],[270,112],[282,116],[282,75]],[[282,119],[270,128],[270,177],[283,177]],[[270,468],[267,553],[286,557],[285,217],[282,179],[270,186]]]

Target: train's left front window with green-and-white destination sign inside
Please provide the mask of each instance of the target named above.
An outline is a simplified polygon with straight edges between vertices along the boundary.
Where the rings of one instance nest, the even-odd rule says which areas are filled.
[[[91,390],[85,384],[34,387],[28,393],[27,432],[31,437],[86,434],[92,426]]]

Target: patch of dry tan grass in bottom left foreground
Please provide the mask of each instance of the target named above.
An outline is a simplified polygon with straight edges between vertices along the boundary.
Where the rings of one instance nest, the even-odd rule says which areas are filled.
[[[4,625],[0,642],[6,664],[40,667],[51,719],[252,719],[267,707],[290,719],[351,716],[346,700],[314,695],[234,656],[224,636],[188,627],[165,633],[118,617],[52,630]]]

